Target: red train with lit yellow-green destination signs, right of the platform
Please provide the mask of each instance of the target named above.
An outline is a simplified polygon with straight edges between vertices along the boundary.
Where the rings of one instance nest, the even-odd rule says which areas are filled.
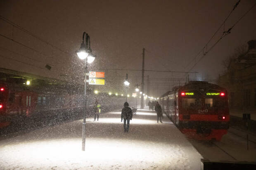
[[[160,98],[165,114],[197,140],[221,140],[229,128],[228,93],[216,84],[191,81]]]

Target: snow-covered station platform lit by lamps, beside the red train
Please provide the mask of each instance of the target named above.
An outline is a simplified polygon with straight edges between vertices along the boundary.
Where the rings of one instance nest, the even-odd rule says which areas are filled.
[[[34,130],[0,141],[0,169],[26,170],[199,170],[201,155],[164,117],[138,109],[123,132],[121,109],[86,120]]]

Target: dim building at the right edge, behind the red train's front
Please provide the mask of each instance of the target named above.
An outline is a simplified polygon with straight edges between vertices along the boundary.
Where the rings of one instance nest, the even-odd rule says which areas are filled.
[[[256,40],[248,42],[246,54],[230,60],[218,84],[228,90],[231,112],[256,114]]]

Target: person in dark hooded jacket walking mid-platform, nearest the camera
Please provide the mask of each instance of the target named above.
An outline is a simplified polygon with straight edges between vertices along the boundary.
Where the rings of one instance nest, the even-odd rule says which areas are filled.
[[[125,102],[123,104],[123,109],[122,109],[122,113],[121,113],[121,122],[123,121],[123,128],[124,128],[124,132],[129,131],[129,126],[130,126],[130,120],[132,120],[133,118],[133,111],[132,109],[129,107],[128,102]],[[126,126],[126,121],[127,121],[127,126]]]

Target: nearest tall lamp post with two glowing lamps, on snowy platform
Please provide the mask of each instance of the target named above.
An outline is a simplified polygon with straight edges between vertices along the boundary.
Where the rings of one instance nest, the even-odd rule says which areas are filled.
[[[85,37],[85,43],[84,43],[84,37]],[[85,59],[85,109],[84,109],[84,115],[83,115],[83,128],[82,128],[82,151],[85,151],[85,128],[86,128],[86,83],[87,83],[87,63],[92,63],[95,59],[95,56],[92,55],[92,49],[90,44],[90,36],[83,32],[83,42],[81,44],[80,49],[76,51],[77,56],[81,59]]]

